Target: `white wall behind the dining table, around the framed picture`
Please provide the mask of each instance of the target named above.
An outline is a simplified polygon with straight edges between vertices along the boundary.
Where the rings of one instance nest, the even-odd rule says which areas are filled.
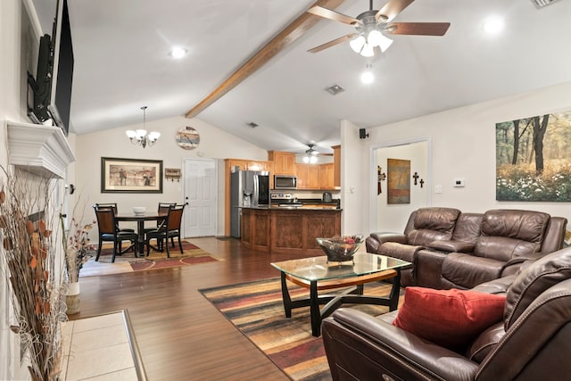
[[[147,116],[151,111],[147,111]],[[199,119],[186,119],[183,116],[147,121],[147,131],[158,131],[161,138],[156,145],[145,149],[132,145],[125,135],[127,129],[142,128],[141,123],[121,128],[106,129],[91,134],[79,135],[75,138],[76,153],[76,187],[87,203],[84,222],[95,218],[91,209],[94,203],[117,203],[120,212],[130,212],[133,206],[145,206],[148,210],[156,210],[159,202],[183,202],[183,182],[166,181],[163,178],[162,194],[121,194],[101,192],[101,158],[116,157],[123,159],[161,160],[164,168],[183,169],[183,159],[211,158],[218,159],[218,232],[224,235],[224,162],[222,159],[268,160],[268,152],[243,139],[235,137],[215,128]],[[175,135],[178,128],[192,126],[200,134],[200,144],[193,150],[185,150],[178,146]],[[184,176],[184,173],[183,173]],[[96,229],[91,239],[96,239]]]

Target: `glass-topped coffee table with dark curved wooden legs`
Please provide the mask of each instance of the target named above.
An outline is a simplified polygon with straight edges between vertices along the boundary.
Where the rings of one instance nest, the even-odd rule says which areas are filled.
[[[321,319],[327,318],[343,303],[376,304],[397,308],[401,286],[401,269],[410,262],[371,253],[355,253],[353,261],[327,263],[327,257],[302,258],[300,260],[271,263],[281,272],[282,297],[285,317],[292,317],[292,310],[310,306],[311,334],[321,335]],[[388,296],[364,295],[363,285],[393,278],[393,288]],[[287,282],[310,289],[309,298],[292,300]],[[318,291],[349,287],[340,294],[318,294]],[[325,306],[319,311],[319,305]]]

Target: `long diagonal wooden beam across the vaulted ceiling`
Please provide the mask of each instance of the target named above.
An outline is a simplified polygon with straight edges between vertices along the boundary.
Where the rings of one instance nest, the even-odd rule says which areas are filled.
[[[344,0],[318,0],[315,4],[311,5],[310,8],[320,5],[328,9],[334,9],[342,4],[343,1]],[[284,50],[285,47],[292,45],[297,38],[302,37],[303,33],[317,24],[320,20],[321,18],[318,16],[308,12],[303,12],[297,19],[279,32],[276,37],[269,41],[266,46],[263,46],[252,56],[252,58],[230,75],[228,79],[224,80],[219,87],[216,87],[211,94],[207,95],[189,112],[186,112],[186,118],[194,118],[196,115],[206,110],[208,106],[218,101],[219,98],[228,93],[228,91],[238,86],[244,79],[247,79],[252,75],[252,73],[260,69],[266,62],[269,62],[274,55]]]

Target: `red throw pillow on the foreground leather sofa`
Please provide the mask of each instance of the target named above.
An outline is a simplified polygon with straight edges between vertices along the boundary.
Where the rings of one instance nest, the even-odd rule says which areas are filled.
[[[505,303],[505,295],[407,287],[393,326],[459,351],[502,319]]]

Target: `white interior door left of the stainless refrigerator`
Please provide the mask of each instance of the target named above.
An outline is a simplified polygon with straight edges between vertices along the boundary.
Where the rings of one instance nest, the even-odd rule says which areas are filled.
[[[210,159],[186,159],[184,170],[184,236],[216,236],[216,162]]]

